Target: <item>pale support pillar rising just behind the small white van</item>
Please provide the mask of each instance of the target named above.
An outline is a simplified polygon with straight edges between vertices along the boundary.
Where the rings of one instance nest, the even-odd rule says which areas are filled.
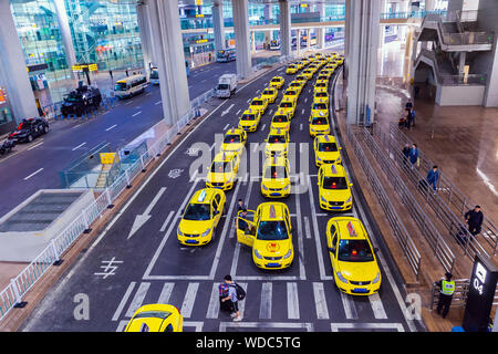
[[[250,41],[249,41],[249,10],[248,0],[232,0],[234,32],[237,52],[237,74],[241,79],[252,72]]]

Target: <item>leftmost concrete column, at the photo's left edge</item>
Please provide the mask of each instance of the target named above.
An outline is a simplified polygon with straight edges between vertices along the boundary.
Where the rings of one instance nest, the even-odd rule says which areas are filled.
[[[38,117],[33,91],[25,70],[24,54],[9,1],[0,1],[0,77],[7,87],[15,121]]]

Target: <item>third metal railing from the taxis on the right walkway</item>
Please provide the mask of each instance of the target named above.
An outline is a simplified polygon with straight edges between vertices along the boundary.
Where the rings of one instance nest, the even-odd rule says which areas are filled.
[[[478,239],[474,237],[465,227],[461,218],[458,218],[455,212],[453,212],[450,207],[443,200],[443,198],[439,196],[439,192],[435,192],[432,186],[428,186],[428,184],[425,185],[426,179],[425,176],[422,175],[421,170],[427,173],[428,169],[433,167],[433,165],[430,165],[429,168],[424,169],[422,165],[422,158],[419,167],[417,167],[416,165],[412,165],[411,162],[408,162],[408,164],[404,164],[403,162],[405,160],[405,156],[402,153],[402,148],[404,145],[400,147],[400,145],[394,140],[393,135],[382,134],[378,126],[375,127],[374,131],[375,134],[380,137],[380,142],[383,144],[390,156],[394,156],[397,169],[407,177],[407,179],[414,185],[416,190],[418,190],[418,192],[423,196],[426,204],[430,206],[433,211],[438,217],[439,221],[442,221],[446,227],[448,233],[463,248],[465,254],[467,254],[471,259],[474,259],[477,253],[483,253],[489,257]]]

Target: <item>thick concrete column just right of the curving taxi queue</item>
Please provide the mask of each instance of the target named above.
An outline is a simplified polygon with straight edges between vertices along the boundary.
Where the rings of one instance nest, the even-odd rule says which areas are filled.
[[[346,1],[347,7],[347,123],[365,123],[367,107],[372,123],[375,113],[381,0],[350,0]]]

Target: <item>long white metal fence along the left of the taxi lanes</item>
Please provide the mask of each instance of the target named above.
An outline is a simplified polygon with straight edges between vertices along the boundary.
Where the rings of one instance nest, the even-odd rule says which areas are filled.
[[[123,174],[117,176],[114,183],[98,194],[97,198],[80,216],[71,222],[59,236],[52,239],[50,244],[20,274],[11,279],[8,287],[0,292],[0,321],[15,306],[23,306],[22,296],[37,283],[38,280],[52,266],[60,264],[61,256],[83,233],[89,232],[94,222],[105,210],[112,208],[113,201],[126,189],[133,180],[162,153],[166,150],[174,137],[199,116],[198,106],[203,100],[209,100],[214,90],[198,96],[191,102],[193,108],[185,114],[157,142],[147,147],[135,163],[129,165]]]

